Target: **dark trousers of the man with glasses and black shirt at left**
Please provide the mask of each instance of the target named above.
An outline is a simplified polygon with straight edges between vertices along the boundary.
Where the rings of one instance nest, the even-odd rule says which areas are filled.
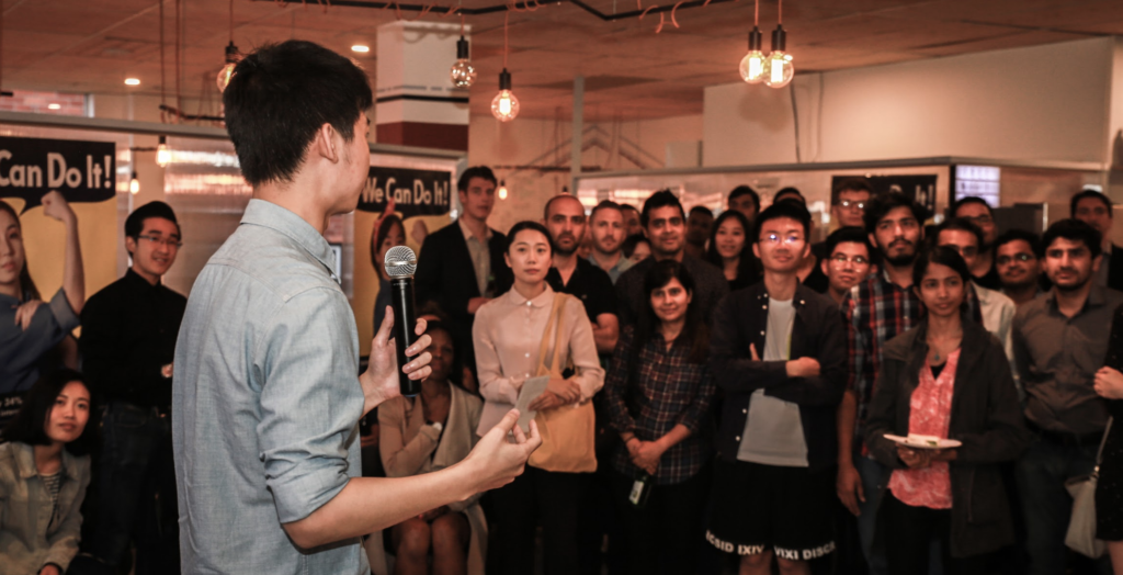
[[[128,564],[136,545],[136,573],[180,572],[179,517],[171,425],[152,408],[111,402],[102,419],[98,464],[97,527],[89,553],[112,567]]]

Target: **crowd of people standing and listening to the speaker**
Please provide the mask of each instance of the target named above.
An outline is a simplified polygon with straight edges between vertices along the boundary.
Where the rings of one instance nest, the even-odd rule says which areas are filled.
[[[423,236],[432,371],[365,419],[363,468],[454,466],[524,387],[542,445],[514,482],[368,536],[375,573],[523,575],[541,550],[547,574],[1123,574],[1123,257],[1102,193],[1039,237],[999,234],[977,198],[934,223],[855,179],[812,244],[793,188],[761,209],[739,186],[716,218],[669,191],[640,210],[563,194],[503,234],[496,183],[465,171],[459,218]],[[0,574],[176,573],[175,213],[135,210],[129,270],[86,299],[77,220],[43,206],[67,238],[45,305],[0,202]],[[372,263],[404,243],[380,219]],[[1081,559],[1066,482],[1097,467],[1108,555]]]

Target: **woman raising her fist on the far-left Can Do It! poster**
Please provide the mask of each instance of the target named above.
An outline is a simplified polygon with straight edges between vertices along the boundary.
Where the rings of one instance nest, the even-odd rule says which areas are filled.
[[[63,284],[49,302],[42,300],[28,272],[19,216],[0,201],[0,400],[30,389],[45,356],[79,326],[85,305],[77,218],[58,192],[47,193],[42,203],[43,213],[63,222],[66,234]],[[0,411],[0,421],[13,414]]]

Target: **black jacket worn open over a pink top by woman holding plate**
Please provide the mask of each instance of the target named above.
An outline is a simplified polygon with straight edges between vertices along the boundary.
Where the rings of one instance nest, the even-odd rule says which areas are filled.
[[[882,371],[866,421],[866,445],[893,469],[906,468],[885,433],[909,435],[910,400],[928,356],[928,320],[885,344]],[[951,555],[970,557],[1014,542],[998,463],[1030,445],[1014,377],[1002,343],[974,321],[964,321],[951,398],[948,437],[964,442],[951,462]],[[888,485],[888,473],[878,483]]]

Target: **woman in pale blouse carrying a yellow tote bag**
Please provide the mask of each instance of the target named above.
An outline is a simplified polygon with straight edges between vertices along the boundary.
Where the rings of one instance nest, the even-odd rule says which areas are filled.
[[[490,411],[505,412],[514,405],[523,382],[536,376],[544,364],[572,366],[572,369],[551,374],[546,391],[530,403],[529,408],[539,412],[540,429],[544,416],[566,416],[562,410],[567,409],[592,410],[588,402],[604,384],[604,369],[596,356],[593,328],[584,305],[576,298],[555,293],[546,283],[551,256],[549,234],[540,223],[523,221],[511,228],[505,259],[514,273],[514,285],[481,307],[472,327],[480,393],[487,403],[484,419]],[[555,322],[550,322],[555,298],[563,301]],[[547,323],[551,323],[549,334]],[[544,336],[546,354],[540,357]],[[573,445],[564,444],[586,439],[584,435],[566,436],[564,428],[554,427],[551,431],[549,437],[544,433],[540,454],[565,451]],[[532,457],[524,474],[493,492],[495,517],[489,545],[489,574],[533,572],[537,523],[542,526],[547,575],[577,573],[577,509],[596,468],[592,436],[587,439],[587,454],[583,455],[587,462],[572,458],[564,462],[564,467],[579,473],[551,469],[557,459],[536,463]]]

